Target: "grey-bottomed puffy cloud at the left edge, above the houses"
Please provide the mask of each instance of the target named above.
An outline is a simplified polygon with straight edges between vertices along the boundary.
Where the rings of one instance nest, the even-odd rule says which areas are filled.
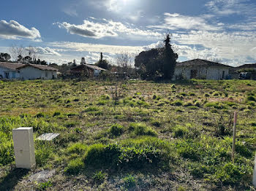
[[[4,39],[39,39],[41,36],[37,28],[26,28],[15,20],[10,20],[9,23],[6,20],[0,20],[0,37]]]

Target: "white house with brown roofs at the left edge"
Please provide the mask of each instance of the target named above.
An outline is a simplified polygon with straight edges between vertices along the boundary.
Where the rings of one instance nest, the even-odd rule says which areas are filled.
[[[57,71],[47,65],[0,62],[0,78],[4,79],[56,79]]]

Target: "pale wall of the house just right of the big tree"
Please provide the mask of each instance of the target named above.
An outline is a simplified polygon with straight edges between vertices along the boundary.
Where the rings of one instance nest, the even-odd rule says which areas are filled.
[[[222,79],[222,72],[225,71],[225,78],[229,75],[229,68],[226,67],[214,67],[214,66],[176,66],[173,80],[180,79],[191,79],[191,71],[196,71],[196,79]]]

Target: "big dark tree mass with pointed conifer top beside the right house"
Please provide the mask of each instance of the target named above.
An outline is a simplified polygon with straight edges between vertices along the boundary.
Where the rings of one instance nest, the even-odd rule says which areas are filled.
[[[173,52],[169,34],[164,42],[165,47],[143,51],[135,57],[135,67],[143,79],[172,79],[178,55]]]

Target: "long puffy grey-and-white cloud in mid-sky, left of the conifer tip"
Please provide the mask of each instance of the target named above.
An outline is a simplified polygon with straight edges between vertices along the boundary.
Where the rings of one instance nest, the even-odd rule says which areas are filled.
[[[106,36],[118,36],[129,39],[152,40],[158,39],[159,36],[162,36],[159,32],[135,28],[134,26],[129,26],[129,24],[124,25],[121,22],[114,22],[113,20],[103,19],[100,21],[101,22],[83,20],[82,25],[69,24],[67,22],[56,24],[60,28],[67,29],[67,32],[70,34],[78,34],[80,36],[94,39],[101,39]]]

